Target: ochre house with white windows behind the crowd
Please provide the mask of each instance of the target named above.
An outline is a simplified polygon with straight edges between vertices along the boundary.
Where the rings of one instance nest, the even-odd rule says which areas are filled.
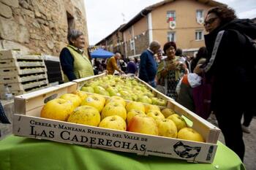
[[[140,55],[153,40],[162,46],[174,41],[185,52],[196,52],[205,46],[203,21],[206,12],[220,4],[211,0],[165,0],[146,7],[120,29],[125,56]]]

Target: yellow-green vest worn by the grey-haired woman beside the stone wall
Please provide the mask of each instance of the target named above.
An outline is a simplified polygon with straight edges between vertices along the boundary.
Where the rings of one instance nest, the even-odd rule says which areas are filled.
[[[70,51],[72,57],[74,58],[74,74],[78,79],[83,77],[89,77],[94,75],[94,69],[91,66],[91,62],[86,55],[78,53],[78,48],[72,45],[68,45],[67,49]],[[69,79],[64,74],[64,82],[69,82]]]

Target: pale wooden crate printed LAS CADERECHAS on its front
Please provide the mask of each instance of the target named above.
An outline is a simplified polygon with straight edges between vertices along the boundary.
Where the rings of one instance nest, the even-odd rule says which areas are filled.
[[[212,163],[214,161],[219,128],[175,101],[167,101],[167,107],[174,109],[179,115],[189,118],[192,121],[192,128],[202,134],[206,142],[192,142],[129,131],[116,131],[39,117],[40,111],[47,101],[64,93],[72,93],[79,86],[76,82],[67,82],[16,96],[13,133],[18,136],[36,139],[81,144],[87,147],[121,152],[134,152],[138,155],[157,155],[202,163]],[[121,147],[121,144],[124,144],[124,147]],[[187,149],[188,151],[186,151]],[[189,150],[192,152],[189,152]]]

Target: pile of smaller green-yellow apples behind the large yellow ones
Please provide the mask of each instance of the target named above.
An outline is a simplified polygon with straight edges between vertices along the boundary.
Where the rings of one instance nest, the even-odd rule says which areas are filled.
[[[151,90],[146,88],[146,85],[133,77],[106,75],[97,80],[86,82],[80,90],[103,96],[121,96],[125,100],[140,101],[145,104],[166,106],[165,100],[155,97]]]

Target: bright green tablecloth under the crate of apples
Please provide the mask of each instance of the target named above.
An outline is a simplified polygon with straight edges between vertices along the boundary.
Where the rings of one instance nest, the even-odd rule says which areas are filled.
[[[244,169],[244,164],[232,150],[221,142],[218,145],[214,163],[208,164],[8,136],[0,141],[0,170]]]

